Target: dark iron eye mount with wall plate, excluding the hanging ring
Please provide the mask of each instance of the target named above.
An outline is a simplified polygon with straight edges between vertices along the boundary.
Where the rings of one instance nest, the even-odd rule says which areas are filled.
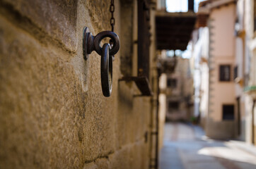
[[[92,51],[96,51],[98,55],[102,54],[103,48],[100,46],[100,42],[105,37],[110,37],[113,42],[113,46],[110,49],[110,55],[117,54],[120,49],[119,37],[115,32],[103,31],[98,33],[95,37],[89,32],[88,27],[83,28],[83,58],[88,59],[88,55]]]

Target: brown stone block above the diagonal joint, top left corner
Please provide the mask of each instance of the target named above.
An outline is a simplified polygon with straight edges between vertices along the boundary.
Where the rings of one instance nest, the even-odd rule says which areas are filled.
[[[52,39],[64,44],[70,51],[76,50],[76,8],[77,1],[69,0],[3,0],[0,2],[1,13],[14,15],[26,24],[34,25],[28,31],[39,29]],[[8,10],[9,13],[5,13]],[[27,26],[28,28],[28,26]],[[32,28],[32,30],[30,30]],[[45,35],[44,35],[45,36]]]

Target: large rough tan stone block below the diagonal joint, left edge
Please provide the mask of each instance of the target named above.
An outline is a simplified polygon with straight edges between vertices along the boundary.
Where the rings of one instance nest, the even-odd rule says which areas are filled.
[[[1,23],[1,166],[78,168],[86,95],[74,68],[3,18]]]

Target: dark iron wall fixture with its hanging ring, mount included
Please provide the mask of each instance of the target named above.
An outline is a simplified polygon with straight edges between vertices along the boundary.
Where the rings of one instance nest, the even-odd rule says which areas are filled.
[[[103,47],[100,46],[101,40],[105,37],[110,37],[113,42],[112,47],[107,43],[103,44]],[[106,97],[110,96],[112,92],[112,56],[117,54],[119,49],[120,41],[115,32],[103,31],[93,36],[88,27],[83,28],[83,58],[87,60],[92,51],[96,51],[97,54],[101,56],[101,87],[103,95]]]

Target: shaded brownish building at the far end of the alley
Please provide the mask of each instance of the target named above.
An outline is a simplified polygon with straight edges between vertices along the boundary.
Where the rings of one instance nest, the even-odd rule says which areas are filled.
[[[167,74],[166,80],[166,120],[190,121],[192,118],[192,75],[190,61],[177,57],[173,73]]]

